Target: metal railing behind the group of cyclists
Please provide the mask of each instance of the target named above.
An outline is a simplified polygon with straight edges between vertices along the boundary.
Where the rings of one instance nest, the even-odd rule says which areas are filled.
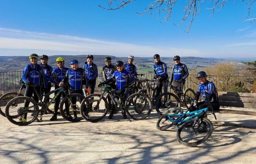
[[[143,77],[147,79],[153,79],[154,77],[152,73],[143,74]],[[18,91],[21,77],[22,71],[0,72],[0,95],[10,91]],[[138,77],[140,78],[140,76]],[[185,82],[185,89],[192,88],[196,91],[199,82],[195,77],[196,75],[188,76]],[[208,75],[207,79],[215,84],[218,91],[256,93],[256,77]],[[100,91],[97,86],[102,81],[104,81],[104,77],[102,72],[99,71],[95,92]]]

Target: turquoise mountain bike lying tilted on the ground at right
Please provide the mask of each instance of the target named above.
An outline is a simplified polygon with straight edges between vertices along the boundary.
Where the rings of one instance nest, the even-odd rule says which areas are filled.
[[[177,141],[185,146],[193,147],[205,142],[213,132],[213,125],[207,119],[207,111],[210,109],[217,120],[213,108],[208,100],[208,107],[193,112],[189,109],[183,113],[181,108],[173,108],[163,114],[157,121],[159,130],[166,130],[173,125],[180,128],[177,131]],[[191,104],[192,106],[192,104]]]

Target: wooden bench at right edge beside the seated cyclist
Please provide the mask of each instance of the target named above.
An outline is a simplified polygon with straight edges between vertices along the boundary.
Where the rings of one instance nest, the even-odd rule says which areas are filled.
[[[218,96],[220,113],[256,116],[256,93],[218,92]]]

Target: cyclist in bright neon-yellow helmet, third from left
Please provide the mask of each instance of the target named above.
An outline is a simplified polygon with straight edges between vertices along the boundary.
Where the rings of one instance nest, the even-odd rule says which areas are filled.
[[[64,62],[65,62],[64,59],[61,57],[56,59],[57,68],[52,71],[52,74],[50,77],[50,82],[54,84],[54,90],[60,87],[59,83],[63,81],[66,75],[66,72],[69,70],[67,67],[64,67]],[[54,92],[54,95],[56,94],[57,94],[57,91]],[[65,92],[62,92],[56,97],[55,104],[54,104],[54,114],[52,118],[50,118],[50,121],[57,120],[57,114],[58,114],[61,95],[63,96],[63,98],[66,97]],[[66,110],[68,109],[68,103],[65,104],[65,109]]]

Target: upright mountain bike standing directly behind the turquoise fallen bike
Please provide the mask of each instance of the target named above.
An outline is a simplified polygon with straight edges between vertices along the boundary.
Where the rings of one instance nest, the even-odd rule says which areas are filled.
[[[179,90],[177,87],[170,85],[169,92],[160,94],[155,103],[155,109],[158,111],[160,115],[167,112],[170,108],[185,106],[189,108],[189,105],[194,101],[194,97],[196,95],[195,91],[191,88],[188,88],[184,91]],[[171,93],[171,90],[177,90],[177,92],[181,95],[181,98],[174,93]]]

